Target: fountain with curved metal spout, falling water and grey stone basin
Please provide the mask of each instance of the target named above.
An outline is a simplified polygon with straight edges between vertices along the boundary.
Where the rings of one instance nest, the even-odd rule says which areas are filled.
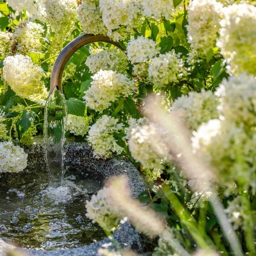
[[[115,175],[129,177],[133,196],[145,189],[138,170],[127,159],[95,159],[86,143],[64,144],[67,111],[61,86],[63,69],[77,49],[93,42],[121,48],[103,35],[81,35],[66,45],[53,67],[44,141],[25,148],[29,161],[24,172],[0,177],[1,256],[13,248],[29,255],[97,255],[99,248],[109,244],[111,249],[111,239],[85,217],[85,200]],[[128,222],[122,223],[113,237],[126,249],[138,246],[139,235]]]

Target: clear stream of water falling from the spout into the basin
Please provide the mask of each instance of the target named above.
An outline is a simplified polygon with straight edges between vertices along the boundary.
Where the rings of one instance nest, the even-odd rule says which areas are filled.
[[[53,187],[63,185],[63,144],[66,117],[65,97],[60,90],[54,89],[47,99],[44,112],[44,158],[49,173],[49,185]]]

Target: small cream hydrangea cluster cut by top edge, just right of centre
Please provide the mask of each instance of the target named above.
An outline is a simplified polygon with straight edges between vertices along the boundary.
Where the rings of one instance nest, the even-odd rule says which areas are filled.
[[[158,0],[154,2],[152,0],[142,0],[143,15],[148,17],[154,17],[154,19],[161,19],[164,17],[166,20],[170,20],[174,11],[172,0]]]

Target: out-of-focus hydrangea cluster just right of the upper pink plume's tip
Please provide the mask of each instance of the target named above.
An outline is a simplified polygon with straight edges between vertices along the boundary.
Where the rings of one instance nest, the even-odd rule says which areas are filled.
[[[218,118],[218,99],[210,91],[190,92],[173,102],[173,111],[184,118],[190,130],[196,130],[200,124]]]

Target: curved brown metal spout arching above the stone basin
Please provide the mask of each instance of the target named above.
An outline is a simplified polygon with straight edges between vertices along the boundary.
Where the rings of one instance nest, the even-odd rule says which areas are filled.
[[[89,43],[95,43],[95,42],[111,43],[113,45],[116,45],[122,51],[124,51],[124,49],[121,47],[120,44],[118,44],[117,42],[114,42],[108,36],[105,36],[105,35],[83,34],[78,36],[77,38],[72,40],[69,44],[67,44],[65,48],[62,49],[60,55],[58,56],[56,62],[54,63],[49,94],[52,94],[56,86],[62,92],[62,85],[61,85],[62,74],[65,68],[65,65],[67,61],[70,59],[70,57],[84,45]]]

